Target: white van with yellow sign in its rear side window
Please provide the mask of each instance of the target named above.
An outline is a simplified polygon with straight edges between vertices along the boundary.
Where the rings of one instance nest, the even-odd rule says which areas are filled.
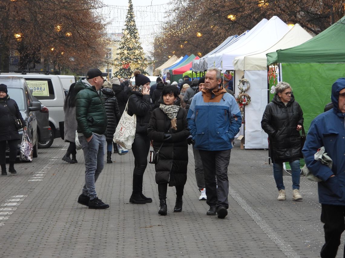
[[[66,96],[59,76],[49,74],[49,72],[39,73],[38,71],[35,73],[20,71],[1,73],[0,76],[23,77],[28,87],[33,89],[32,95],[49,109],[49,126],[51,127],[52,136],[49,141],[39,142],[38,144],[40,148],[49,148],[54,138],[61,137],[59,122],[65,120],[63,103]]]

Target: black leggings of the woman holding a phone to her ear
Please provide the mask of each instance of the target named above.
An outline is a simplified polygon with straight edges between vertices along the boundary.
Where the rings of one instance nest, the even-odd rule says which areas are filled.
[[[144,175],[147,166],[147,155],[150,151],[150,138],[141,133],[136,133],[132,144],[132,152],[134,155],[134,171],[133,174]]]

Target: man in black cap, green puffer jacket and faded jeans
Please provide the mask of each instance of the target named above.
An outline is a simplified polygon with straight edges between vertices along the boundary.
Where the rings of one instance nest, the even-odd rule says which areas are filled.
[[[78,198],[78,203],[91,209],[106,209],[108,204],[98,199],[95,182],[101,173],[104,162],[107,129],[107,112],[104,97],[100,91],[103,76],[99,69],[90,69],[86,79],[80,79],[75,86],[76,119],[78,123],[78,139],[82,146],[85,159],[85,185]]]

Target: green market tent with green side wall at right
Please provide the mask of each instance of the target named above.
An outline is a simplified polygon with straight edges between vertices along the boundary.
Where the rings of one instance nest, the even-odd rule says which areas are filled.
[[[306,131],[331,101],[332,84],[345,77],[344,42],[345,16],[303,44],[267,54],[267,65],[279,63],[280,80],[291,85]],[[269,88],[272,85],[269,80]]]

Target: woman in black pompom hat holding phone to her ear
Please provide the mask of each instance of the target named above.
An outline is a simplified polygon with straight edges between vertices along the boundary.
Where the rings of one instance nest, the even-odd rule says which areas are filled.
[[[151,203],[152,199],[142,194],[142,179],[147,166],[147,155],[150,150],[150,138],[147,127],[151,117],[150,79],[134,72],[135,85],[128,100],[128,114],[137,116],[137,127],[132,152],[134,155],[133,191],[129,198],[130,203]]]

